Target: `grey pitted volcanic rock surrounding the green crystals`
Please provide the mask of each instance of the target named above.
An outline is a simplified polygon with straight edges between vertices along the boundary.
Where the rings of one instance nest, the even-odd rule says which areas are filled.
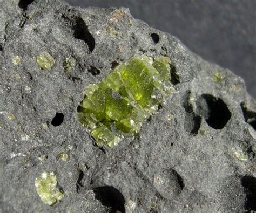
[[[0,8],[0,212],[256,210],[256,104],[241,78],[125,8]],[[37,64],[43,52],[50,71]],[[135,138],[99,148],[77,119],[85,88],[142,54],[171,59],[173,92]],[[44,171],[64,193],[53,206],[36,192]]]

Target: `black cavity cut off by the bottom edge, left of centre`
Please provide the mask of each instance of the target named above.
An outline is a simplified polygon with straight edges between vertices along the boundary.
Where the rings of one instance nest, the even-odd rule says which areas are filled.
[[[106,207],[109,207],[110,212],[125,212],[125,198],[118,189],[105,186],[97,187],[93,191],[96,199]]]

